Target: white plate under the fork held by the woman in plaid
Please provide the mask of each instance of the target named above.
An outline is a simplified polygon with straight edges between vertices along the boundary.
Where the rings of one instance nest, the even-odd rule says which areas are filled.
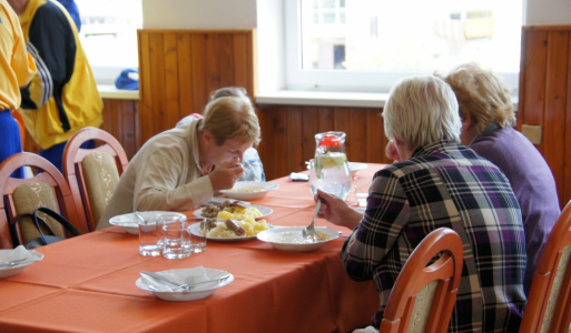
[[[325,241],[309,242],[304,240],[302,230],[305,226],[276,226],[258,233],[258,240],[270,243],[274,249],[293,252],[311,252],[321,249],[328,241],[339,236],[338,231],[327,228],[315,228],[318,233],[327,236]]]

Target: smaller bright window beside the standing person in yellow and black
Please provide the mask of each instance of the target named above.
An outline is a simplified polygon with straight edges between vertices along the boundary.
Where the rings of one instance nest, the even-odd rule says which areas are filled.
[[[112,84],[122,69],[138,68],[141,0],[76,0],[79,38],[98,83]]]

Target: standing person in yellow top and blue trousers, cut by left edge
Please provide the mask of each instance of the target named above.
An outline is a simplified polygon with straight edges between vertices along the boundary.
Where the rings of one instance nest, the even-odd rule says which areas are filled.
[[[0,163],[22,151],[20,127],[12,111],[20,107],[20,88],[36,73],[36,63],[26,51],[18,16],[6,0],[0,0]],[[12,176],[23,178],[23,171]]]

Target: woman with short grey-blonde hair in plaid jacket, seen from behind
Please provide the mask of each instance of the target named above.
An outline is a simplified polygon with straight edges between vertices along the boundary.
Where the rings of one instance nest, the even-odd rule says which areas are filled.
[[[395,280],[415,246],[450,228],[463,242],[464,266],[449,331],[516,332],[525,294],[525,235],[518,200],[498,167],[460,144],[454,92],[435,77],[393,88],[383,111],[385,135],[401,161],[378,170],[364,214],[325,192],[318,216],[353,230],[341,259],[355,281],[374,280],[378,332]]]

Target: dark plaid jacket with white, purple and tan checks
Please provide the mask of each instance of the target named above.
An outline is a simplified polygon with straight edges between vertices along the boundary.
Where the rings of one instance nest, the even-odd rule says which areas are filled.
[[[414,248],[447,226],[464,244],[464,268],[450,332],[516,332],[525,295],[525,235],[503,173],[474,151],[441,141],[376,172],[360,225],[342,260],[356,281],[373,279],[381,305]]]

